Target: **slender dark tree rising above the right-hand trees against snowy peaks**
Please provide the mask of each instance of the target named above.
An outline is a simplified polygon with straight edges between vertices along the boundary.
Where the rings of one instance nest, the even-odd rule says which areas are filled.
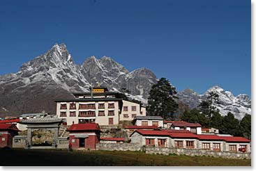
[[[216,110],[216,106],[213,106],[213,103],[218,103],[218,97],[219,95],[216,94],[216,92],[209,92],[209,94],[206,97],[206,100],[202,101],[199,104],[199,109],[208,119],[209,125],[211,124],[211,117],[216,111],[218,111]]]

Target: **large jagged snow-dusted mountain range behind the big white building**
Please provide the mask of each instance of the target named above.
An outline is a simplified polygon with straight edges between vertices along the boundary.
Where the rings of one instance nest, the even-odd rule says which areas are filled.
[[[89,92],[91,83],[110,90],[130,90],[130,97],[145,99],[156,76],[145,68],[129,72],[112,58],[95,56],[74,63],[65,44],[54,44],[45,54],[24,63],[15,74],[0,76],[0,116],[20,113],[55,113],[54,99],[72,98],[71,92]]]

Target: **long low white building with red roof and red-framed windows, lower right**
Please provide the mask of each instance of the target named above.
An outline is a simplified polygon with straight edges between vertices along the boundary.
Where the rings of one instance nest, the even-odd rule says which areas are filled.
[[[215,152],[250,152],[250,140],[243,137],[197,135],[188,130],[137,130],[132,143],[153,147],[202,149]]]

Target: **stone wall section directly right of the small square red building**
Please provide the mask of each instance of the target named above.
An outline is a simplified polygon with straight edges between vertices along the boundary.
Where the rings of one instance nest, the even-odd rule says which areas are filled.
[[[109,151],[140,151],[142,147],[139,143],[97,143],[96,149],[109,150]]]

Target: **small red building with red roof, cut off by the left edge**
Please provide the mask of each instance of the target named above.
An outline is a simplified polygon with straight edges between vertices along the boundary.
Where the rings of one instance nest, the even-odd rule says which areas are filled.
[[[13,136],[19,130],[15,124],[0,124],[0,147],[13,147]]]

